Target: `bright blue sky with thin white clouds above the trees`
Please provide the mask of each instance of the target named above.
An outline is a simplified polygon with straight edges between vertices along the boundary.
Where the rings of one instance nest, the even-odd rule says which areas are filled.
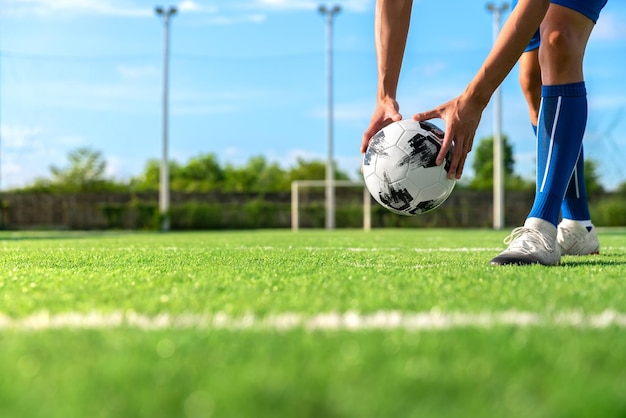
[[[374,0],[0,0],[0,187],[49,175],[82,146],[101,151],[108,174],[120,180],[160,158],[163,25],[156,5],[179,8],[171,22],[172,159],[214,153],[222,164],[241,165],[264,155],[285,168],[298,157],[325,160],[320,4],[342,7],[334,25],[334,157],[356,179],[375,104]],[[492,42],[485,4],[414,1],[398,94],[405,117],[456,96],[471,79]],[[624,22],[626,2],[609,0],[585,64],[585,149],[608,188],[626,181]],[[534,141],[517,69],[502,95],[516,171],[532,178]],[[492,114],[490,105],[477,141],[492,134]]]

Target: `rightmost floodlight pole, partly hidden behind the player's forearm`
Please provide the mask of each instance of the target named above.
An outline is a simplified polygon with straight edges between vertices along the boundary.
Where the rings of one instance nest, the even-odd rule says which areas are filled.
[[[509,4],[496,6],[487,3],[487,10],[493,13],[493,43],[500,34],[502,13]],[[504,228],[504,152],[502,146],[502,91],[498,87],[493,96],[493,229]]]

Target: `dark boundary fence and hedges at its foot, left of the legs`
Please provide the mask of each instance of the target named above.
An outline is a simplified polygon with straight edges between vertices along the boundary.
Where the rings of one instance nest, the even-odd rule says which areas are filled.
[[[5,229],[158,229],[155,193],[3,193]],[[395,215],[375,202],[371,226],[490,227],[492,194],[456,190],[437,210],[414,217]],[[532,194],[508,192],[507,223],[520,225]],[[363,227],[363,189],[337,189],[338,228]],[[367,205],[365,205],[367,207]],[[301,189],[298,227],[324,227],[324,192]],[[172,229],[291,228],[291,193],[172,193]]]

